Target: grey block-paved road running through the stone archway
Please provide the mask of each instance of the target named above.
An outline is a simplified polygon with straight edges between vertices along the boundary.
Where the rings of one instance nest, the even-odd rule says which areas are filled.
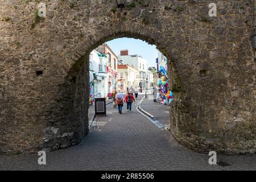
[[[47,153],[46,165],[37,154],[0,155],[0,170],[256,170],[256,155],[217,155],[231,165],[209,165],[207,154],[178,144],[135,105],[122,115],[111,104],[107,110],[79,145]]]

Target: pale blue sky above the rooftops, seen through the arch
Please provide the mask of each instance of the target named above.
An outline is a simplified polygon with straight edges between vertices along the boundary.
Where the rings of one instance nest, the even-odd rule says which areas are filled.
[[[130,55],[140,55],[143,59],[146,59],[149,67],[155,66],[155,59],[158,57],[155,45],[151,46],[140,39],[133,38],[119,38],[106,43],[117,56],[121,50],[128,49]]]

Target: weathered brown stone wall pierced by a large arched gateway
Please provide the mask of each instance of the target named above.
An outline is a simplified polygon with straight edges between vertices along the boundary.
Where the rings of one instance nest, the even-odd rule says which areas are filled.
[[[0,1],[0,152],[75,145],[88,133],[88,55],[123,36],[170,61],[170,131],[196,151],[256,150],[254,1]]]

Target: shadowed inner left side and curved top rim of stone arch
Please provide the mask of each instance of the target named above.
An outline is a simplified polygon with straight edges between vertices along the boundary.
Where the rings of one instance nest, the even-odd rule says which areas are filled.
[[[121,24],[121,26],[123,27],[123,24]],[[87,44],[88,49],[86,50],[82,45],[85,45],[88,39],[85,39],[85,41],[81,43],[81,46],[78,46],[75,52],[79,59],[77,59],[69,69],[64,84],[60,87],[61,96],[58,102],[63,107],[61,107],[61,110],[55,110],[53,107],[50,113],[47,114],[53,117],[63,117],[65,115],[65,120],[67,119],[68,121],[63,123],[56,120],[56,122],[48,123],[46,127],[46,137],[43,143],[44,148],[65,148],[78,144],[88,133],[87,115],[89,93],[87,88],[89,88],[89,54],[93,49],[105,43],[106,40],[122,37],[141,39],[145,40],[147,43],[155,44],[160,51],[168,55],[175,54],[182,57],[182,54],[178,53],[176,48],[170,48],[166,51],[167,47],[161,47],[161,45],[165,44],[165,39],[159,32],[142,26],[138,26],[137,30],[131,29],[120,32],[120,28],[122,27],[115,27],[114,29],[117,31],[112,35],[104,35],[102,32],[96,31],[96,35],[94,35],[94,38],[97,38],[95,40],[96,42]],[[138,30],[143,30],[142,32],[145,33],[138,33]],[[146,32],[150,32],[150,34]],[[154,37],[157,37],[158,41],[155,41]],[[90,38],[90,40],[92,40],[92,38]],[[180,57],[177,59],[180,59]]]

